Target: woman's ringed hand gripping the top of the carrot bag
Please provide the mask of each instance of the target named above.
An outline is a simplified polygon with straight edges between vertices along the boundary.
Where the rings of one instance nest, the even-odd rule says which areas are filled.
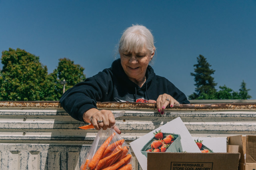
[[[83,119],[86,122],[90,122],[97,130],[100,130],[101,128],[106,130],[115,124],[115,117],[110,110],[98,110],[96,108],[92,108],[84,113]],[[97,120],[103,120],[103,122],[98,123]],[[118,127],[114,126],[114,130],[118,134],[121,134]]]

